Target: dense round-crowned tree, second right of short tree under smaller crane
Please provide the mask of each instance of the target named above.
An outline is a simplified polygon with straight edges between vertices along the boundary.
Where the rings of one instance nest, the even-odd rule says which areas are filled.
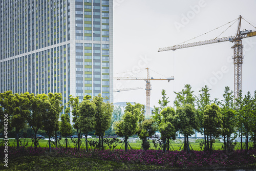
[[[184,135],[184,150],[190,153],[188,137],[194,134],[194,130],[198,129],[198,121],[196,118],[196,110],[193,105],[185,104],[184,107],[178,107],[177,128],[180,134]]]

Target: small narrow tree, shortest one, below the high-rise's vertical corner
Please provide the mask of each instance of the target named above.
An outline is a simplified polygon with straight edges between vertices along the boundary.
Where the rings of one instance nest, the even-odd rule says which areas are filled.
[[[62,114],[60,116],[60,128],[61,136],[66,137],[66,149],[68,149],[68,136],[72,134],[72,125],[70,124],[70,117],[68,114]]]

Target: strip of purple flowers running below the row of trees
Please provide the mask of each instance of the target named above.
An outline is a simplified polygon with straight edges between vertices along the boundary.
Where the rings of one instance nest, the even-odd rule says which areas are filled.
[[[41,156],[50,155],[53,157],[72,157],[72,158],[92,158],[93,152],[86,152],[84,149],[77,151],[75,148],[53,148],[49,153],[49,148],[40,148],[36,150],[32,147],[17,149],[9,147],[9,157],[20,156]],[[0,153],[3,153],[1,150]],[[2,154],[1,154],[2,155]],[[184,151],[170,151],[162,153],[158,150],[136,150],[130,149],[125,152],[122,149],[115,149],[112,153],[109,150],[95,151],[94,157],[100,160],[112,160],[117,162],[138,163],[143,165],[160,165],[164,167],[230,167],[242,166],[256,163],[256,150],[250,150],[247,155],[244,150],[238,150],[231,153],[225,151],[213,151],[211,155],[203,151],[192,151],[186,154]]]

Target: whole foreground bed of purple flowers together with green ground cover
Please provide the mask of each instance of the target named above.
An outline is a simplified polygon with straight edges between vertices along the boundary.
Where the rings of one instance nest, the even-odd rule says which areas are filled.
[[[128,152],[122,149],[96,150],[86,152],[84,149],[77,151],[75,148],[48,148],[9,147],[9,168],[11,170],[164,170],[180,168],[225,168],[225,167],[256,167],[256,150],[245,153],[244,150],[234,152],[192,151],[186,154],[184,151],[169,151],[162,153],[158,150],[136,150]],[[1,157],[4,149],[0,148]],[[86,169],[85,169],[86,168]],[[6,169],[1,163],[0,169]]]

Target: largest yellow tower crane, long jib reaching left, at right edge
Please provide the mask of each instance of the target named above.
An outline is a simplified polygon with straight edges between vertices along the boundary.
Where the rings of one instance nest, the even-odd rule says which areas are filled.
[[[233,63],[234,63],[234,98],[238,98],[239,91],[242,90],[242,63],[243,63],[242,39],[247,38],[247,37],[256,36],[256,31],[252,31],[252,30],[240,31],[242,18],[243,17],[241,15],[238,18],[238,30],[237,30],[237,34],[235,36],[215,38],[215,39],[211,39],[211,40],[193,42],[193,43],[190,43],[190,44],[183,44],[183,45],[176,45],[176,46],[172,46],[172,47],[159,48],[158,52],[170,51],[170,50],[175,51],[177,49],[189,48],[189,47],[195,47],[195,46],[201,46],[201,45],[208,45],[208,44],[215,44],[215,43],[223,42],[223,41],[234,42],[234,45],[231,47],[233,49],[233,53],[234,53],[234,55],[233,55]]]

